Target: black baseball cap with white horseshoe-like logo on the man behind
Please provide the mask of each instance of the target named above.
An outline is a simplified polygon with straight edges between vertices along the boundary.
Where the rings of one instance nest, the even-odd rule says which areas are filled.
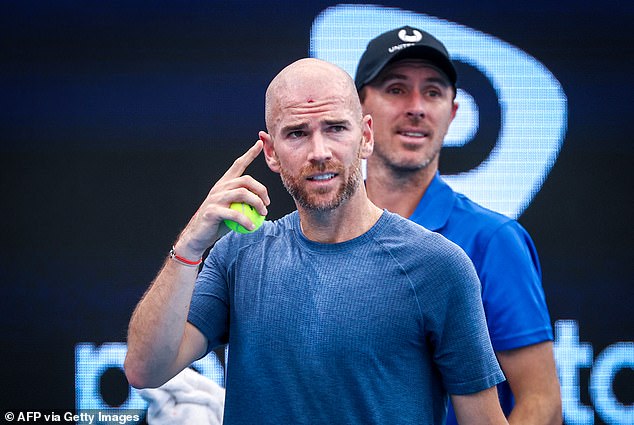
[[[445,46],[433,35],[404,26],[384,32],[368,43],[357,65],[357,90],[374,80],[381,70],[397,59],[425,59],[443,71],[456,87],[458,75]]]

